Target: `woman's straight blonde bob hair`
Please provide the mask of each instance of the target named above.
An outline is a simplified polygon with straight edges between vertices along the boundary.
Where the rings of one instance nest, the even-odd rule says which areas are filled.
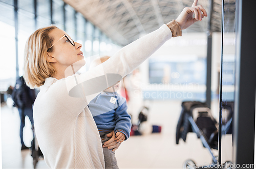
[[[24,51],[24,78],[30,88],[44,85],[45,79],[53,77],[55,69],[52,63],[46,60],[47,50],[52,45],[54,38],[49,33],[57,29],[56,26],[40,28],[27,40]],[[48,52],[53,51],[53,47]]]

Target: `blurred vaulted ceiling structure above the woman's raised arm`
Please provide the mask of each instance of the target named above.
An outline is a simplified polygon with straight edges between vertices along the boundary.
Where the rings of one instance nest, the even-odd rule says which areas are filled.
[[[102,32],[120,45],[126,45],[176,19],[193,0],[63,0],[83,14]],[[234,5],[236,0],[230,0]],[[221,2],[214,0],[211,30],[221,31]],[[206,11],[208,0],[199,1]],[[234,5],[235,9],[235,5]],[[234,18],[230,18],[234,20]],[[196,22],[186,32],[206,32],[207,19]]]

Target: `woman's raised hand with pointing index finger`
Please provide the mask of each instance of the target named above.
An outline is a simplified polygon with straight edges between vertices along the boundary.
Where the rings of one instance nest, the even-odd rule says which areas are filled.
[[[198,0],[195,0],[192,7],[184,8],[183,11],[178,16],[178,18],[175,19],[179,23],[181,30],[188,28],[198,20],[202,21],[203,17],[207,16],[205,9],[201,5],[197,6],[197,2]],[[195,13],[195,18],[193,18],[194,13]]]

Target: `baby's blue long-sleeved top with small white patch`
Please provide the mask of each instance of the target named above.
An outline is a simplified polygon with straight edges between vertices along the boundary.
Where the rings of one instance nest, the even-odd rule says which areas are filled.
[[[113,92],[99,93],[88,105],[99,132],[122,132],[130,137],[131,116],[127,113],[125,98]],[[125,139],[125,140],[126,140]]]

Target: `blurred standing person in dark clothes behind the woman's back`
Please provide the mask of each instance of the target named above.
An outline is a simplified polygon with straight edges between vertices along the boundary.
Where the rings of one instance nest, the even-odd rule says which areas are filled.
[[[29,117],[32,127],[34,125],[32,106],[35,98],[35,90],[25,84],[23,76],[19,77],[12,92],[12,100],[14,101],[14,106],[18,108],[20,117],[19,137],[22,144],[21,150],[29,149],[23,141],[23,128],[25,127],[26,116]]]

